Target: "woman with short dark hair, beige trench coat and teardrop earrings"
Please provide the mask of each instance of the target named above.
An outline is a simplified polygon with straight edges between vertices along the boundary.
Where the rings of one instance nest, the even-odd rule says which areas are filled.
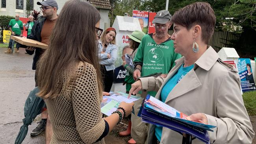
[[[130,90],[158,91],[155,98],[188,114],[187,120],[216,126],[208,131],[210,143],[250,144],[252,124],[240,92],[236,68],[219,59],[208,46],[215,27],[210,4],[196,2],[176,11],[172,17],[176,60],[166,78],[139,78]],[[182,135],[150,124],[148,144],[181,144]],[[204,142],[195,139],[193,144]]]

